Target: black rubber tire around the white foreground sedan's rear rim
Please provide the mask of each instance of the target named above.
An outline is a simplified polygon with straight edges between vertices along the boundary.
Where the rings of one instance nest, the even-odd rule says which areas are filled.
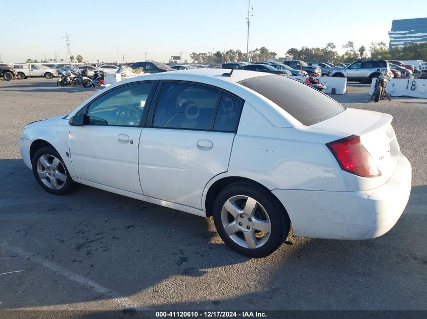
[[[222,209],[224,204],[234,196],[246,196],[254,199],[267,213],[271,232],[266,242],[258,248],[248,248],[236,243],[224,230]],[[288,213],[277,198],[268,189],[248,182],[236,182],[222,189],[215,199],[212,215],[217,232],[228,247],[252,258],[266,257],[274,252],[286,240],[291,228]],[[239,234],[239,231],[235,232],[235,234]],[[240,234],[243,235],[243,232]]]

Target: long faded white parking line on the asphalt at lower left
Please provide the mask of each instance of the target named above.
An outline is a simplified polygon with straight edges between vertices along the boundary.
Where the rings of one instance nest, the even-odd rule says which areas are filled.
[[[122,306],[123,308],[129,309],[137,309],[137,310],[143,310],[144,307],[138,307],[136,306],[128,297],[120,297],[120,294],[110,290],[100,284],[98,284],[97,282],[94,282],[93,280],[84,278],[80,275],[74,274],[73,272],[62,268],[52,262],[48,262],[44,259],[41,259],[39,257],[33,256],[33,254],[31,252],[27,252],[21,248],[18,247],[12,247],[9,246],[5,243],[1,243],[0,245],[8,248],[9,250],[12,250],[13,252],[15,252],[16,254],[18,254],[19,256],[21,256],[24,259],[29,258],[29,260],[31,260],[32,262],[35,262],[41,266],[43,266],[44,268],[48,268],[54,272],[57,272],[58,274],[61,274],[62,276],[68,278],[69,280],[75,281],[77,283],[79,283],[82,286],[85,286],[91,290],[93,290],[94,292],[97,292],[99,294],[103,294],[105,296],[109,296],[112,297],[112,301],[117,303],[118,305]],[[6,273],[7,274],[7,273]],[[3,275],[3,274],[0,274]]]

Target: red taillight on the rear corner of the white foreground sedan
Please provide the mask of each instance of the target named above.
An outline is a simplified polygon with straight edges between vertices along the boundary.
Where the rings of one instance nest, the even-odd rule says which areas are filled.
[[[334,154],[343,170],[362,177],[381,175],[378,166],[360,143],[360,137],[351,135],[344,139],[329,142],[326,146]]]

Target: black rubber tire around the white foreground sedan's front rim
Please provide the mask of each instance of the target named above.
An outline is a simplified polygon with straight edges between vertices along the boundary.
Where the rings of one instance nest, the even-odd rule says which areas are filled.
[[[39,174],[37,171],[37,162],[43,155],[50,155],[50,156],[56,157],[57,159],[60,160],[60,162],[62,164],[62,167],[60,168],[61,173],[66,174],[66,180],[64,182],[58,181],[58,183],[61,182],[61,184],[60,184],[61,188],[59,188],[59,189],[50,188],[50,187],[46,186],[46,184],[39,177]],[[54,195],[65,195],[65,194],[69,193],[70,190],[72,189],[74,181],[71,178],[70,173],[68,172],[67,166],[65,166],[65,163],[64,163],[61,155],[59,155],[59,153],[53,147],[45,146],[45,147],[42,147],[41,149],[39,149],[37,152],[35,152],[35,154],[32,158],[31,164],[32,164],[33,174],[34,174],[35,179],[37,180],[38,184],[44,190],[46,190],[46,192],[54,194]],[[44,171],[47,171],[47,169],[44,168]],[[54,174],[55,170],[52,170],[51,172],[52,172],[52,174]],[[53,176],[55,176],[55,175],[53,175]]]

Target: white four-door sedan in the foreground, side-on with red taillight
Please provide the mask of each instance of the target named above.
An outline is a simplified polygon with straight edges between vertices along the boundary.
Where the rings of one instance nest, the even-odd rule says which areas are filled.
[[[212,216],[230,248],[265,257],[291,224],[328,239],[396,224],[411,165],[391,121],[287,77],[186,70],[118,82],[28,124],[19,145],[49,193],[82,183]]]

